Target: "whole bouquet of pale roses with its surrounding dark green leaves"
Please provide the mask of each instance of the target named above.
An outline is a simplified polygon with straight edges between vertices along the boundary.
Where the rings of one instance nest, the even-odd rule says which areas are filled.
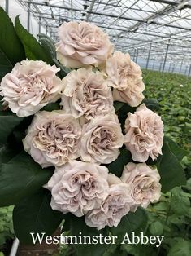
[[[0,206],[15,205],[16,236],[63,219],[72,234],[144,230],[142,208],[185,178],[141,68],[86,22],[61,25],[54,45],[1,9],[0,37]]]

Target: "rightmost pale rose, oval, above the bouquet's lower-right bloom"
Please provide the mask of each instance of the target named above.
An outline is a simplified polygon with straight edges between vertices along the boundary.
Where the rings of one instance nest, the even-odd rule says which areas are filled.
[[[154,161],[162,154],[163,121],[145,104],[141,104],[134,114],[128,113],[124,127],[124,143],[134,161],[144,162],[149,157]]]

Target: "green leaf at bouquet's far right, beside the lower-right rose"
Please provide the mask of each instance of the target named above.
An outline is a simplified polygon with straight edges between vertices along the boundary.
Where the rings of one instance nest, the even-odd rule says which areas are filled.
[[[162,191],[167,192],[176,186],[184,185],[186,179],[184,170],[176,156],[171,152],[168,142],[164,142],[162,151],[163,157],[158,162],[158,172],[161,176]]]

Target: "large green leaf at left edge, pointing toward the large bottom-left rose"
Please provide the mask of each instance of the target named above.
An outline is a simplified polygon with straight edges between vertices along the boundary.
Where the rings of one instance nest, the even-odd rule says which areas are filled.
[[[0,165],[0,207],[14,205],[33,194],[51,177],[52,170],[42,169],[27,153],[21,152]]]

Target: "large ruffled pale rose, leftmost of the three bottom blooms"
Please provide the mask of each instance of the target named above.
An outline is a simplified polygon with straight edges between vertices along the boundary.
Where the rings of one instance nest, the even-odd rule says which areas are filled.
[[[80,217],[99,207],[108,195],[107,174],[105,166],[82,161],[59,166],[44,186],[52,193],[52,209]]]

